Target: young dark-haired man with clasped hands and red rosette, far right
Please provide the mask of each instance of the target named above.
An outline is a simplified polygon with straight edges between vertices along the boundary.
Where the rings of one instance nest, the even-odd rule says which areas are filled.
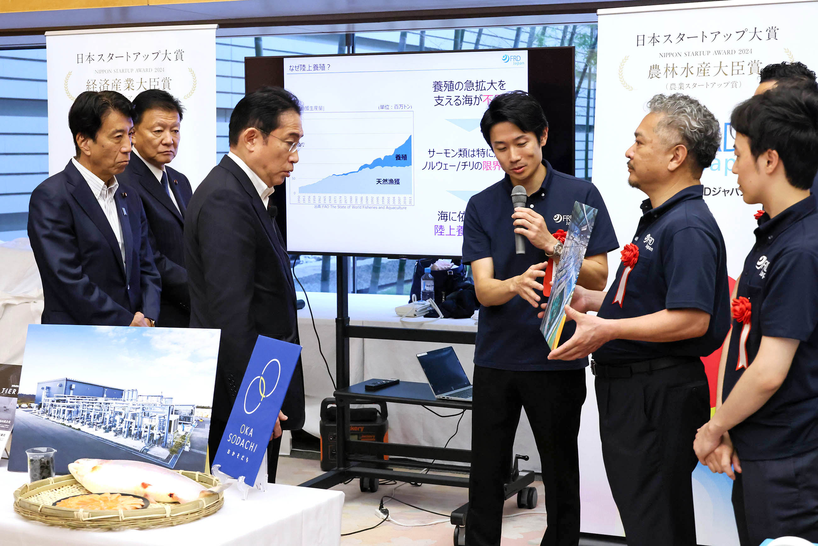
[[[732,301],[718,407],[694,449],[735,479],[742,546],[818,542],[818,94],[775,88],[730,124],[744,202],[766,212]]]

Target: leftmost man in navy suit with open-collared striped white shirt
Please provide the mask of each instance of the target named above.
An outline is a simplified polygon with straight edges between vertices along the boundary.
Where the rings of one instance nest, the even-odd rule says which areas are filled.
[[[115,91],[80,93],[68,124],[77,155],[29,202],[43,324],[153,326],[161,281],[145,211],[116,179],[131,153],[131,102]]]

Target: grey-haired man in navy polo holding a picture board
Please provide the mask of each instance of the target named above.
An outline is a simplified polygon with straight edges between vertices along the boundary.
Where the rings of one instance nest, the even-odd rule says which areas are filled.
[[[648,196],[636,235],[607,292],[574,292],[576,333],[549,358],[593,352],[602,457],[627,544],[695,546],[693,440],[710,415],[700,357],[730,320],[725,245],[699,181],[721,131],[691,97],[648,106],[625,154],[628,184]]]

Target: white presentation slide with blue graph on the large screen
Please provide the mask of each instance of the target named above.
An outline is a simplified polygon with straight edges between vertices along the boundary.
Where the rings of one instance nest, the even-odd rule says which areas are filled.
[[[466,203],[504,175],[480,119],[528,90],[528,51],[285,58],[284,83],[304,130],[290,253],[461,255]]]

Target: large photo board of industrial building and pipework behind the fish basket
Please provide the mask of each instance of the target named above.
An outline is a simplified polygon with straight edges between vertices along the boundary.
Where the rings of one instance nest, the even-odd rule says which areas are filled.
[[[34,447],[57,450],[58,474],[79,458],[205,470],[218,331],[183,334],[31,325],[20,393],[34,404],[16,408],[9,470]]]

